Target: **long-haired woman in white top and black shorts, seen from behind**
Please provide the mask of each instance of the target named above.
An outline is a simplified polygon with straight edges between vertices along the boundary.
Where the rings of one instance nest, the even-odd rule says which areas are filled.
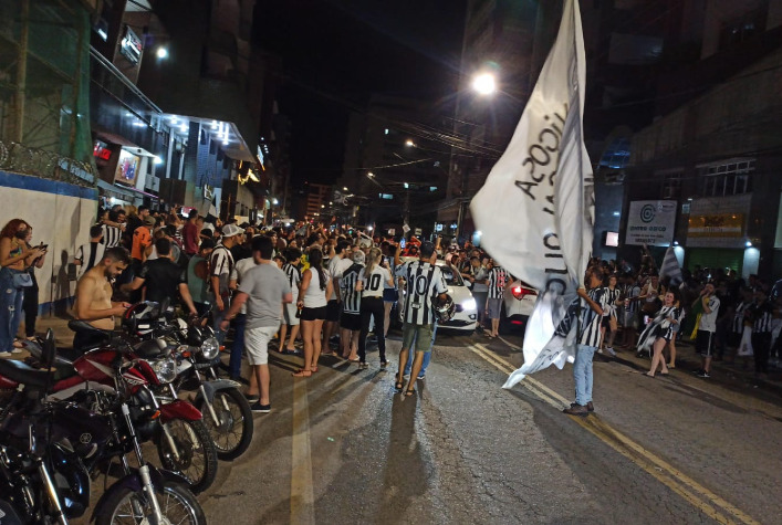
[[[323,252],[320,246],[311,248],[307,256],[310,267],[302,272],[296,303],[301,309],[304,368],[294,372],[293,377],[310,377],[317,371],[317,359],[321,357],[321,330],[323,321],[326,318],[326,300],[334,287],[329,272],[323,270]]]

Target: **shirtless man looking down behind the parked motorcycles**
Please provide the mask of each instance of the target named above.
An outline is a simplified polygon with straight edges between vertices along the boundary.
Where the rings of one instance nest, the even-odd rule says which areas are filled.
[[[131,263],[131,254],[124,248],[110,248],[103,260],[90,269],[76,285],[76,305],[74,315],[86,321],[95,328],[114,329],[114,316],[122,315],[131,306],[128,303],[112,302],[112,280],[119,275]],[[76,333],[73,348],[84,348],[96,343],[92,336]]]

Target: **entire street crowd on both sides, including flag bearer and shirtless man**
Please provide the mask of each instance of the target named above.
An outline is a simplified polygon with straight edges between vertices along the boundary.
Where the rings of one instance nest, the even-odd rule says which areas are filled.
[[[403,343],[395,389],[415,393],[415,381],[425,378],[431,358],[438,319],[447,319],[453,307],[438,259],[471,283],[478,332],[499,335],[503,293],[513,277],[469,242],[446,246],[440,238],[434,243],[413,238],[403,249],[394,238],[336,224],[262,229],[207,220],[195,209],[187,217],[180,212],[177,207],[170,213],[146,207],[102,209],[88,241],[73,256],[73,315],[112,330],[115,316],[132,304],[168,302],[209,323],[221,345],[229,346],[226,335],[232,329],[228,372],[239,379],[247,356],[253,411],[271,410],[270,347],[301,356],[303,365],[293,376],[306,378],[317,374],[323,355],[367,368],[367,339],[374,332],[379,368],[386,369],[385,337],[397,302]],[[17,335],[22,318],[25,336],[35,336],[35,269],[45,255],[46,246],[33,242],[25,220],[13,219],[0,232],[0,357],[21,351]],[[595,353],[649,355],[649,378],[676,367],[676,343],[688,338],[702,357],[701,378],[710,377],[712,360],[745,367],[753,359],[759,377],[768,374],[770,363],[779,363],[782,280],[772,285],[757,275],[744,281],[732,270],[696,266],[684,271],[680,283],[671,283],[644,255],[636,269],[626,261],[594,259],[585,283],[557,328],[564,337],[577,321],[576,396],[567,413],[594,410]],[[90,334],[74,337],[75,349],[95,343]]]

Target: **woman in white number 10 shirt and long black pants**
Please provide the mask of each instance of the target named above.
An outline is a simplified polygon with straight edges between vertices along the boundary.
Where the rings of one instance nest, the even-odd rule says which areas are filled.
[[[383,306],[383,290],[385,285],[394,285],[390,272],[380,265],[383,252],[379,248],[369,250],[366,267],[358,273],[358,286],[362,291],[361,316],[362,329],[358,335],[358,367],[368,368],[366,364],[366,336],[369,334],[369,322],[375,318],[375,335],[377,348],[380,351],[380,368],[386,368],[386,337],[384,332],[385,308]],[[387,263],[386,263],[387,264]]]

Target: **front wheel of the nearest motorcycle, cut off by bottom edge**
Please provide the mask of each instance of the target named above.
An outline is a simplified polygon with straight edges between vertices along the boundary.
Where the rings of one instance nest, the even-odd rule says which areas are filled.
[[[156,491],[156,495],[163,514],[161,525],[206,525],[204,508],[185,485],[166,482],[161,491]],[[136,492],[131,487],[116,491],[95,510],[96,525],[146,523],[153,523],[149,498],[144,492]]]

